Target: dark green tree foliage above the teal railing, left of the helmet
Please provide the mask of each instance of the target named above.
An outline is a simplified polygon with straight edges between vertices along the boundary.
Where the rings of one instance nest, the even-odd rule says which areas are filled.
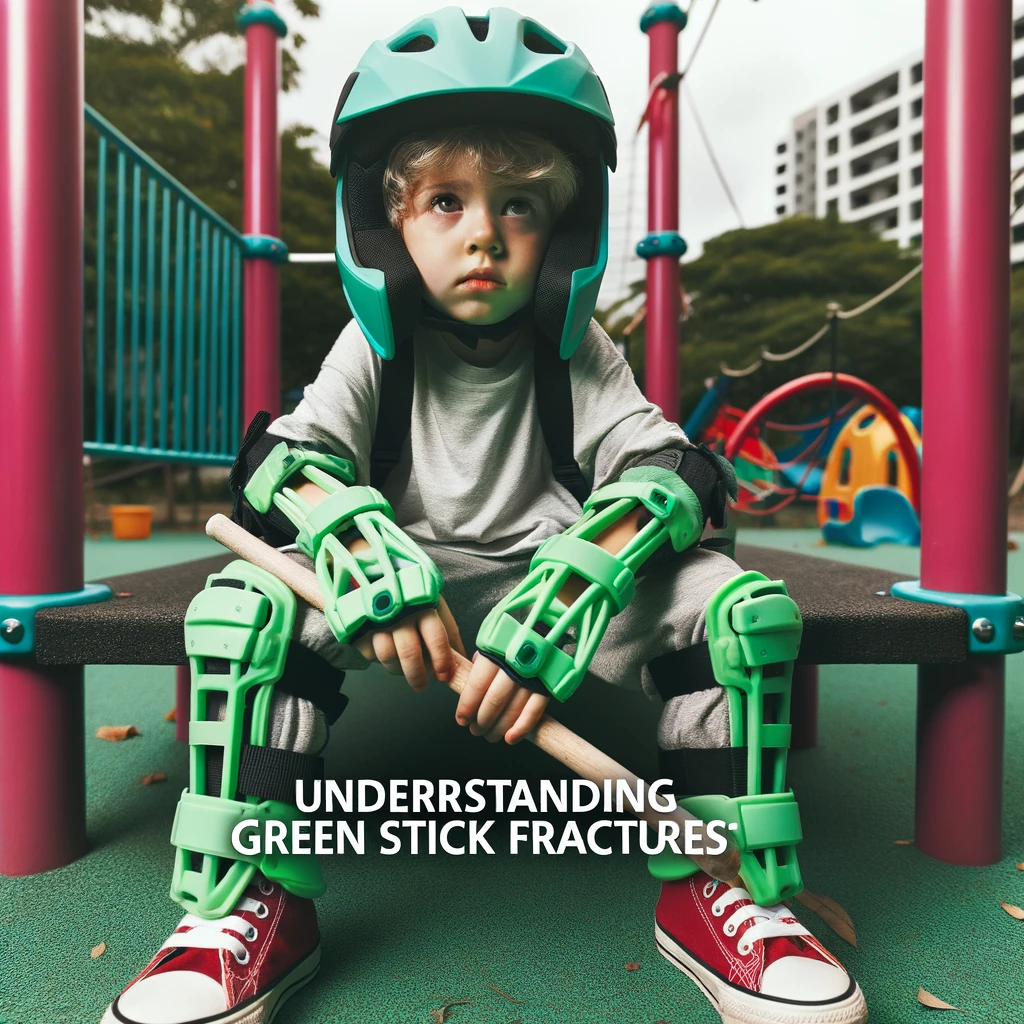
[[[318,16],[312,0],[292,4],[304,16]],[[85,51],[86,101],[240,231],[245,67],[195,71],[182,51],[218,34],[240,36],[241,6],[240,0],[87,0],[93,22]],[[181,15],[176,28],[167,27],[170,9]],[[145,18],[154,38],[100,31],[104,12]],[[294,58],[293,65],[294,83]],[[334,179],[306,144],[314,134],[299,125],[282,133],[281,233],[293,252],[334,251]],[[87,134],[87,159],[94,150]],[[94,168],[87,173],[94,181]],[[281,286],[287,391],[315,376],[350,313],[332,264],[283,266]]]

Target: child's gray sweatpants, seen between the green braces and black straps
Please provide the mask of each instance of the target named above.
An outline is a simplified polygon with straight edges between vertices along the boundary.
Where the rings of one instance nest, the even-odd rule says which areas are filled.
[[[480,623],[487,612],[521,583],[529,555],[483,558],[444,545],[423,544],[444,579],[443,595],[472,656]],[[305,555],[289,552],[312,566]],[[659,699],[647,663],[660,654],[707,640],[705,608],[712,595],[742,570],[730,558],[693,548],[637,579],[636,596],[614,615],[590,666],[591,675],[616,686]],[[366,669],[369,663],[351,645],[339,643],[324,613],[299,603],[296,638],[338,669]],[[326,741],[323,715],[308,701],[279,693],[274,698],[271,735],[274,746],[316,751]],[[707,749],[729,743],[726,691],[716,686],[673,697],[666,702],[657,730],[663,750]]]

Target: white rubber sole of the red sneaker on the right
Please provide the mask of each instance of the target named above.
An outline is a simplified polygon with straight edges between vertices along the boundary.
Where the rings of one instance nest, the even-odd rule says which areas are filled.
[[[864,1024],[867,1004],[860,986],[834,1002],[784,1002],[736,988],[690,955],[660,925],[654,924],[657,951],[690,977],[718,1011],[722,1024]]]

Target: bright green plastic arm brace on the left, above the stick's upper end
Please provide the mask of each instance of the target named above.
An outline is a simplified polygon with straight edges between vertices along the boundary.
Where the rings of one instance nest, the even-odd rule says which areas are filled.
[[[307,502],[287,485],[296,473],[328,497],[318,505]],[[412,608],[436,607],[443,586],[430,557],[395,525],[384,496],[375,487],[352,485],[354,478],[347,459],[282,442],[245,490],[253,508],[265,513],[275,506],[298,529],[296,544],[313,560],[324,591],[324,613],[342,643],[393,623]],[[369,549],[348,550],[352,538],[346,535],[353,530]]]

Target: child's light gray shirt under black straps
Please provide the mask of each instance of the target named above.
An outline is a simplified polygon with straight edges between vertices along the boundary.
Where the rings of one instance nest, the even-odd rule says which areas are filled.
[[[537,415],[532,340],[493,367],[466,362],[435,331],[421,328],[414,344],[412,425],[382,488],[395,522],[416,541],[494,558],[532,551],[577,522],[580,506],[554,478]],[[594,321],[569,378],[575,459],[593,489],[637,456],[685,441]],[[295,412],[269,431],[327,443],[369,483],[380,382],[381,357],[352,321]]]

